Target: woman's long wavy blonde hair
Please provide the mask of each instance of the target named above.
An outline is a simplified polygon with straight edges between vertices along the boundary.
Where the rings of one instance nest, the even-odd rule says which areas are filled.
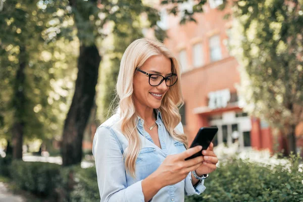
[[[136,67],[140,68],[151,56],[163,55],[171,60],[172,72],[180,75],[180,64],[165,45],[159,41],[140,38],[133,41],[123,54],[118,75],[116,90],[119,96],[121,132],[128,140],[128,146],[123,154],[126,171],[135,177],[135,164],[141,149],[139,133],[136,130],[137,114],[133,102],[133,76]],[[187,148],[187,138],[181,131],[175,131],[180,123],[181,116],[178,107],[184,104],[180,76],[175,85],[171,86],[163,97],[159,111],[162,114],[164,125],[169,134],[177,141],[184,143]]]

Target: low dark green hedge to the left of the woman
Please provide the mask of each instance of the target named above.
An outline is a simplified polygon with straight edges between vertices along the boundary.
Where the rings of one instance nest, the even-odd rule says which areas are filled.
[[[13,161],[9,171],[18,188],[40,197],[49,199],[57,197],[62,201],[99,199],[95,167],[62,168],[52,163]]]

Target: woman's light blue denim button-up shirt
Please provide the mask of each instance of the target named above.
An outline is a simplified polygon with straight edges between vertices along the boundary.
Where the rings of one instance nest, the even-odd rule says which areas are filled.
[[[174,140],[166,130],[159,110],[156,110],[158,134],[161,147],[158,147],[144,130],[143,119],[138,117],[137,130],[142,148],[136,160],[136,178],[125,169],[122,157],[128,141],[119,127],[119,114],[113,115],[97,128],[93,138],[92,154],[95,158],[100,201],[107,202],[144,202],[141,182],[162,164],[168,155],[179,154],[186,150],[182,142]],[[176,130],[183,133],[182,124]],[[165,186],[150,201],[179,202],[184,195],[200,194],[206,189],[204,180],[195,186],[191,184],[191,173],[182,181]]]

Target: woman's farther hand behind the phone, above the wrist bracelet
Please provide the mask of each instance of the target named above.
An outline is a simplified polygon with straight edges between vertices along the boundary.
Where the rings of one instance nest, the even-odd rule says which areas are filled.
[[[202,150],[202,154],[204,155],[204,162],[196,169],[196,173],[199,176],[215,171],[217,169],[216,164],[218,163],[217,155],[214,153],[213,142],[210,143],[206,150]]]

